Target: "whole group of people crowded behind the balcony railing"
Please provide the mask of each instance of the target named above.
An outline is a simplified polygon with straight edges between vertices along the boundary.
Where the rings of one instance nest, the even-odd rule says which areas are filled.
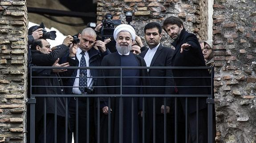
[[[146,97],[143,100],[142,97],[118,98],[118,95],[177,94],[176,96],[179,97],[179,95],[211,94],[209,88],[211,80],[200,78],[210,77],[210,70],[134,68],[122,69],[121,71],[118,68],[86,69],[82,67],[214,66],[212,41],[205,41],[201,49],[197,37],[185,30],[182,20],[171,16],[163,21],[163,25],[156,22],[145,25],[144,38],[147,46],[143,45],[141,38],[136,35],[132,26],[128,24],[118,25],[113,34],[116,51],[111,53],[110,47],[107,46],[107,43],[111,41],[110,39],[96,40],[97,31],[100,27],[102,24],[99,24],[95,29],[85,28],[78,34],[80,42],[77,44],[72,43],[73,37],[68,35],[63,44],[56,46],[54,50],[45,39],[41,39],[42,28],[29,29],[29,66],[63,67],[63,69],[34,69],[32,75],[36,78],[33,78],[31,82],[36,87],[33,87],[32,93],[74,95],[69,100],[65,100],[63,97],[37,98],[36,142],[44,142],[43,126],[45,123],[46,142],[54,143],[54,136],[56,136],[54,127],[57,127],[57,143],[65,143],[65,117],[68,116],[68,143],[72,142],[72,135],[75,142],[79,143],[84,143],[86,140],[89,140],[89,143],[96,143],[97,139],[100,139],[100,143],[108,143],[109,140],[110,143],[120,143],[121,137],[122,143],[141,143],[143,128],[145,143],[153,143],[154,141],[156,143],[164,143],[165,141],[172,143],[175,140],[176,105],[179,114],[176,123],[179,128],[178,142],[185,142],[184,120],[187,117],[188,142],[195,143],[198,140],[199,143],[207,143],[206,98],[197,100],[196,97],[188,99],[180,97],[176,102],[173,97],[156,96],[156,98]],[[160,42],[162,29],[173,39],[171,45],[174,46],[175,50],[163,46]],[[66,66],[79,68],[65,69]],[[123,77],[122,80],[120,77]],[[111,97],[110,100],[108,97],[100,97],[99,102],[97,98],[90,97],[87,100],[86,96],[79,97],[87,94],[116,96]],[[55,112],[55,103],[57,103],[57,112]],[[87,110],[88,103],[89,110]],[[43,118],[45,105],[46,120]],[[69,109],[68,115],[66,115],[66,105]],[[76,114],[77,108],[78,115]],[[145,112],[142,112],[142,109]],[[100,116],[97,116],[98,111],[100,111]],[[187,116],[185,116],[185,112],[187,112]],[[54,123],[55,114],[57,114],[57,125]],[[78,120],[76,120],[77,117]],[[98,119],[100,119],[99,122]],[[89,120],[89,127],[87,127],[87,120]],[[164,128],[165,120],[167,121],[166,131]],[[77,121],[78,123],[76,123]],[[119,124],[121,121],[122,124]],[[142,122],[144,122],[145,127],[142,127]],[[78,129],[76,124],[78,124]],[[98,126],[100,131],[97,129]],[[88,128],[89,136],[86,134]],[[99,138],[97,137],[98,133]]]

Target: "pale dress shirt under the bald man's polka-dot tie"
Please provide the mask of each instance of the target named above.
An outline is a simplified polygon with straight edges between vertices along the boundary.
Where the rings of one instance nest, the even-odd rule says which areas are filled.
[[[82,54],[81,53],[81,49],[78,48],[77,49],[77,59],[79,61],[79,66],[80,66],[80,61],[81,61],[81,58],[82,58]],[[86,66],[89,67],[89,54],[88,52],[86,51],[85,52],[85,61],[86,61]],[[79,72],[80,72],[80,69],[77,69],[77,76],[76,77],[79,77]],[[87,86],[93,86],[93,78],[92,78],[92,75],[91,75],[91,72],[89,69],[87,69],[87,77],[91,77],[91,78],[87,78]],[[75,82],[73,84],[73,86],[79,86],[79,78],[76,78],[75,79]],[[78,87],[73,87],[73,93],[74,94],[82,94],[82,92],[80,91],[80,89]]]

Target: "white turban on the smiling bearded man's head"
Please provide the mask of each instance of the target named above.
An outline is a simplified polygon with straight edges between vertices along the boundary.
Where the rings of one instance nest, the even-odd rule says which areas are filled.
[[[115,28],[115,30],[114,30],[114,39],[115,40],[117,40],[117,35],[121,31],[129,32],[132,39],[135,40],[136,32],[135,32],[134,28],[128,24],[120,24]]]

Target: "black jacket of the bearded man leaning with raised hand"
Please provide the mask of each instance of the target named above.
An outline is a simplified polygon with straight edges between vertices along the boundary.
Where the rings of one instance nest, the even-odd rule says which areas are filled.
[[[183,53],[180,53],[181,45],[183,43],[189,43],[191,46]],[[175,47],[175,52],[171,60],[172,66],[205,66],[203,53],[200,48],[197,37],[194,34],[188,33],[183,29],[179,35],[179,39],[171,43]],[[175,84],[178,86],[179,94],[209,94],[210,88],[208,87],[179,87],[179,86],[205,86],[210,85],[210,78],[195,78],[195,77],[210,77],[207,69],[177,69],[173,70],[174,77],[186,77],[175,78]],[[187,78],[190,77],[190,78]],[[192,78],[193,77],[193,78]],[[185,107],[185,100],[181,101],[183,108]],[[199,109],[206,108],[206,99],[199,99]],[[188,112],[192,113],[196,111],[195,98],[188,100]]]

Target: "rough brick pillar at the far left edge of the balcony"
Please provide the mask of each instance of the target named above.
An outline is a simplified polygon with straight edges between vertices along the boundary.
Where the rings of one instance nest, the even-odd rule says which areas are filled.
[[[27,26],[24,0],[0,1],[0,143],[24,142]]]

